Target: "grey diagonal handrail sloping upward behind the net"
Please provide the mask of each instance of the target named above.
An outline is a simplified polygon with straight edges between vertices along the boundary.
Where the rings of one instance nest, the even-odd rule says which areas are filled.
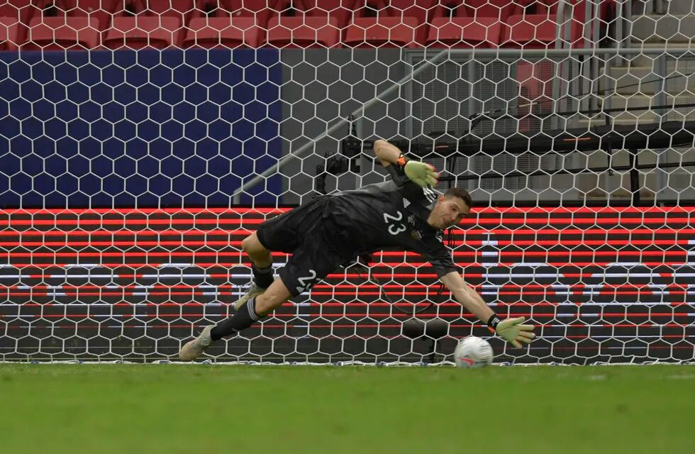
[[[403,84],[410,82],[414,77],[416,77],[418,74],[423,72],[427,67],[429,67],[430,65],[434,65],[436,62],[438,62],[439,60],[442,60],[442,58],[448,54],[449,54],[449,50],[447,50],[447,49],[440,50],[440,52],[438,52],[430,60],[427,60],[427,59],[421,60],[420,65],[418,67],[414,68],[409,74],[406,74],[406,76],[401,78],[401,80],[399,80],[398,82],[392,84],[391,87],[389,87],[389,88],[385,89],[383,92],[377,94],[377,96],[374,99],[372,99],[371,101],[368,101],[367,103],[362,104],[362,106],[360,106],[359,109],[353,111],[352,114],[350,114],[350,116],[354,116],[355,121],[359,120],[360,118],[362,118],[365,115],[365,111],[367,111],[367,109],[369,109],[369,107],[373,106],[374,104],[377,104],[378,101],[381,101],[386,96],[389,96],[389,94],[395,92]],[[348,118],[350,118],[350,116],[348,116]],[[294,152],[287,154],[286,156],[282,157],[279,161],[277,161],[274,165],[272,165],[267,170],[262,172],[262,174],[256,175],[249,182],[243,183],[241,185],[241,187],[234,193],[233,203],[239,204],[239,201],[241,199],[241,194],[243,194],[243,192],[246,189],[250,189],[250,188],[254,187],[256,184],[258,184],[262,181],[265,181],[265,179],[267,177],[269,177],[270,175],[273,175],[275,172],[282,169],[282,167],[285,164],[287,164],[288,161],[290,161],[294,158],[299,158],[299,157],[306,155],[306,153],[313,148],[313,145],[316,142],[318,142],[318,140],[321,140],[324,137],[326,137],[327,135],[330,135],[330,134],[334,133],[335,131],[338,131],[338,129],[345,127],[345,124],[347,123],[347,121],[348,120],[345,118],[340,118],[340,121],[335,123],[333,126],[330,126],[330,128],[328,128],[326,130],[326,132],[319,134],[318,136],[316,136],[312,140],[308,140],[307,143],[305,143],[304,145],[301,145],[301,147],[299,147],[299,150],[296,150]]]

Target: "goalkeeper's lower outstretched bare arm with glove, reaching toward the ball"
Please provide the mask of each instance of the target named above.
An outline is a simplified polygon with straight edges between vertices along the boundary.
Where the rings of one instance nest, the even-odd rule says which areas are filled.
[[[452,296],[466,309],[471,311],[480,321],[493,328],[497,335],[516,348],[521,348],[521,343],[530,343],[535,334],[533,325],[522,325],[523,317],[500,320],[497,314],[485,304],[482,297],[474,289],[466,284],[457,272],[450,272],[442,277],[442,282],[450,290]]]

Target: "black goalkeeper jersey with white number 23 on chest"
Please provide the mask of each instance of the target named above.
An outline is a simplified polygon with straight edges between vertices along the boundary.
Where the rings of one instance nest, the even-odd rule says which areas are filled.
[[[443,231],[427,222],[440,195],[410,180],[330,194],[326,209],[338,230],[335,247],[355,258],[384,249],[413,251],[428,260],[439,277],[458,272]]]

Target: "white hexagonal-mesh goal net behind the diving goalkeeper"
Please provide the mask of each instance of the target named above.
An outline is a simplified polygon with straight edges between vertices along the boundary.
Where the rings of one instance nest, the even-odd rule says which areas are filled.
[[[538,340],[386,251],[204,358],[442,362],[474,335],[497,362],[694,360],[694,23],[691,1],[1,1],[0,360],[175,360],[233,314],[262,221],[387,178],[376,138],[469,190],[445,243]]]

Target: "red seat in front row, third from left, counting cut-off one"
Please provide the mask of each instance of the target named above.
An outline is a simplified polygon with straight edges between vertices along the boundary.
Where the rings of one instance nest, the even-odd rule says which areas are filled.
[[[138,14],[114,17],[103,44],[110,49],[164,49],[179,46],[181,39],[182,28],[178,18]]]

